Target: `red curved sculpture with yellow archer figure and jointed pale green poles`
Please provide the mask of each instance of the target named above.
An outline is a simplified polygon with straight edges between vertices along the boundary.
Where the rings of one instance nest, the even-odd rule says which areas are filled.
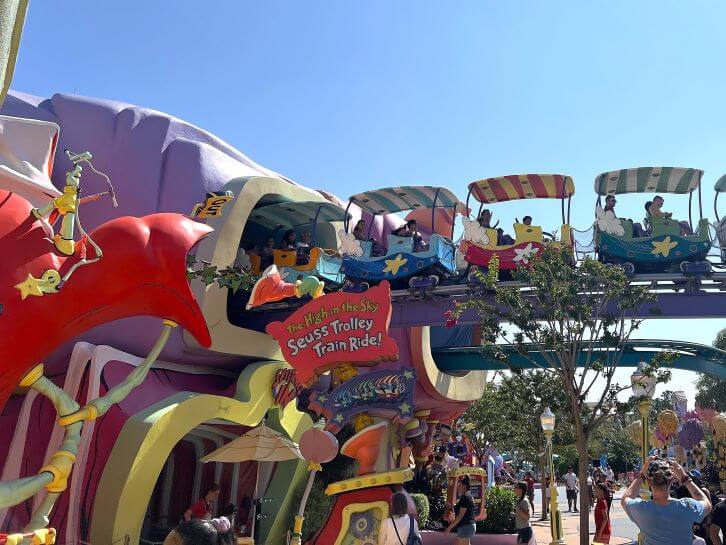
[[[74,180],[71,187],[75,187],[77,172],[74,168],[69,174]],[[74,191],[67,193],[68,202],[54,201],[54,210],[61,215],[65,211],[64,220],[77,212]],[[16,505],[46,488],[48,493],[33,512],[26,532],[48,524],[51,509],[67,486],[83,422],[105,414],[143,381],[171,329],[181,324],[200,344],[210,344],[185,272],[187,253],[211,231],[209,227],[179,214],[125,217],[75,242],[65,221],[60,238],[50,238],[48,224],[39,219],[49,210],[33,213],[28,201],[0,190],[0,255],[4,257],[0,270],[0,409],[16,386],[32,388],[52,401],[60,416],[58,424],[65,428],[61,449],[38,475],[0,483],[0,508]],[[106,255],[93,267],[80,269],[79,263],[89,262],[86,242],[91,238],[105,248]],[[94,257],[100,257],[99,253]],[[61,281],[74,271],[72,280]],[[163,331],[146,360],[106,395],[80,407],[43,376],[40,362],[64,341],[96,325],[137,315],[164,318]]]

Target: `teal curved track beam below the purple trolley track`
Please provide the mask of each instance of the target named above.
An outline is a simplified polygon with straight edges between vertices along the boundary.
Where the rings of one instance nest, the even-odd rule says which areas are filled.
[[[604,350],[604,346],[597,349]],[[702,344],[681,341],[631,340],[628,341],[620,359],[620,367],[635,367],[641,361],[650,361],[657,353],[671,350],[676,359],[669,364],[673,369],[685,369],[705,373],[726,380],[726,352]],[[548,365],[540,352],[532,352],[530,359],[523,357],[514,349],[507,347],[507,363],[491,358],[480,346],[457,348],[438,348],[432,350],[436,366],[447,373],[463,371],[494,371],[498,369],[547,368]],[[580,365],[586,355],[580,354]]]

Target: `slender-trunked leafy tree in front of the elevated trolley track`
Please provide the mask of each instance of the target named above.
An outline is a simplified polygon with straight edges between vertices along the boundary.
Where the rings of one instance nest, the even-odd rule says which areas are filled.
[[[485,352],[505,364],[527,366],[556,374],[567,398],[579,455],[580,489],[586,489],[588,443],[594,430],[618,407],[617,395],[630,388],[613,380],[626,342],[641,325],[637,315],[654,302],[647,286],[631,284],[624,271],[585,259],[573,266],[569,248],[549,245],[513,277],[519,285],[501,284],[495,275],[480,273],[484,289],[459,302],[454,320],[467,310],[477,312]],[[644,371],[664,381],[660,353]],[[600,386],[602,385],[602,386]],[[586,399],[595,401],[584,403]],[[580,528],[587,528],[588,495],[580,495]],[[581,545],[588,544],[587,531]]]

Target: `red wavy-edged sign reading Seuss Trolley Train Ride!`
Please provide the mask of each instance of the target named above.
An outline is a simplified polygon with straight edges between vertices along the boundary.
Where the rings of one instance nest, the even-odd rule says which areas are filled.
[[[268,324],[266,331],[280,344],[300,383],[310,386],[317,375],[341,363],[397,360],[398,346],[388,336],[390,321],[391,288],[384,281],[362,293],[313,299],[284,322]]]

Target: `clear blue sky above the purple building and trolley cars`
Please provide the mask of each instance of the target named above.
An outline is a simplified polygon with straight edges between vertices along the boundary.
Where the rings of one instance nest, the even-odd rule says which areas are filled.
[[[712,217],[724,20],[722,2],[665,0],[35,0],[13,88],[169,112],[342,198],[399,184],[464,198],[481,177],[563,172],[583,227],[598,173],[677,165],[706,171]],[[620,215],[640,218],[644,200],[624,196]],[[665,208],[686,218],[686,206]],[[559,216],[527,207],[548,228]],[[495,209],[504,223],[521,213]],[[722,322],[653,322],[643,336],[710,343]]]

